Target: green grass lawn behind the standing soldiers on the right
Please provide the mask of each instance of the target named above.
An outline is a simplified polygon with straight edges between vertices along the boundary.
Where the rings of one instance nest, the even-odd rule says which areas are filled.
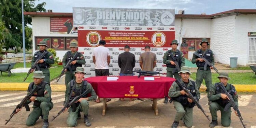
[[[229,73],[228,75],[231,78],[231,80],[228,81],[230,84],[256,84],[256,79],[252,77],[252,73]],[[212,83],[219,82],[217,76],[219,76],[218,73],[212,73]],[[196,80],[196,73],[193,73],[190,77]],[[203,84],[205,85],[204,80]]]

